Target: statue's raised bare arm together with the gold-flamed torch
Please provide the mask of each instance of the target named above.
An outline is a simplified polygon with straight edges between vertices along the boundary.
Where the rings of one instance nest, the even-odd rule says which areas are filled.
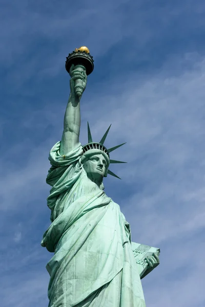
[[[86,89],[87,75],[93,70],[93,59],[87,47],[80,47],[69,54],[66,70],[70,74],[70,96],[64,117],[64,131],[60,155],[66,155],[79,145],[80,99]]]

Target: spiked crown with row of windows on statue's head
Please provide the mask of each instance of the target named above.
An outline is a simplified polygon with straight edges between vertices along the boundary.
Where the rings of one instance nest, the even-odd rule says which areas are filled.
[[[103,138],[101,138],[101,140],[99,141],[99,143],[97,142],[93,142],[92,140],[92,136],[91,136],[91,131],[90,131],[90,126],[89,126],[89,123],[88,123],[88,143],[86,145],[83,146],[83,153],[86,153],[87,151],[89,150],[92,150],[92,149],[97,149],[97,150],[100,150],[103,155],[106,155],[107,156],[107,159],[109,160],[109,163],[127,163],[127,162],[122,162],[122,161],[117,161],[117,160],[110,160],[110,152],[117,149],[118,147],[126,144],[126,143],[122,143],[120,145],[117,145],[117,146],[114,146],[112,148],[109,148],[107,149],[104,145],[104,142],[106,140],[106,137],[108,135],[108,132],[110,130],[110,127],[111,125],[109,126],[109,128],[107,129],[106,133],[104,134]],[[119,178],[116,174],[114,174],[111,170],[108,169],[108,174],[116,177],[116,178]],[[121,179],[121,178],[119,178]]]

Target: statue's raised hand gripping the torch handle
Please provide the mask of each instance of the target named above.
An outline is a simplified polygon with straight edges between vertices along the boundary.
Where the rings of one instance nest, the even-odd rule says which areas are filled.
[[[83,86],[83,91],[85,91],[86,89],[86,84],[87,84],[87,74],[86,74],[86,70],[79,67],[74,69],[74,65],[71,65],[70,68],[70,90],[71,90],[71,96],[72,97],[76,97],[75,91],[74,91],[74,87],[75,87],[75,80],[80,79],[82,82],[80,82],[80,85]]]

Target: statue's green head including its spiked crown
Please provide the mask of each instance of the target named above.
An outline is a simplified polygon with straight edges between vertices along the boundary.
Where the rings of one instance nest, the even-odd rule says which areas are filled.
[[[111,170],[108,169],[110,163],[126,163],[116,160],[110,160],[110,152],[117,149],[121,145],[124,145],[125,143],[107,149],[104,146],[104,142],[109,129],[110,127],[107,129],[105,135],[99,141],[99,143],[97,143],[92,141],[90,127],[88,124],[88,144],[83,146],[83,155],[81,157],[81,163],[83,164],[88,178],[90,178],[92,181],[97,181],[98,183],[103,182],[103,178],[107,177],[108,174],[119,178]]]

